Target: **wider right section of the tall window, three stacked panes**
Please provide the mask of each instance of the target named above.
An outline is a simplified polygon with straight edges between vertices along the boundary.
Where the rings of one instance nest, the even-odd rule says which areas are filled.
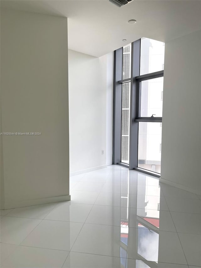
[[[160,173],[162,107],[163,107],[163,42],[142,38],[140,76],[138,77],[138,167]],[[157,118],[157,121],[156,121]]]

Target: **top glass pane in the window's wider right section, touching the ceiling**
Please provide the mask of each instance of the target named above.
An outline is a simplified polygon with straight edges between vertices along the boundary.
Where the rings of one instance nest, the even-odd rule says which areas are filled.
[[[165,43],[149,38],[141,38],[140,75],[164,69]]]

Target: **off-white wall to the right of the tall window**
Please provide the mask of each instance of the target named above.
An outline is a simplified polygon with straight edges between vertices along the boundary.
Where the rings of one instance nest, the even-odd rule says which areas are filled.
[[[166,43],[161,178],[201,194],[201,31]]]

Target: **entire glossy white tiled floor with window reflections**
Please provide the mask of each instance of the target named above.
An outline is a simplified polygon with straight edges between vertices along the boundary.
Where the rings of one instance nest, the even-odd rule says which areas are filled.
[[[201,196],[121,166],[70,178],[71,201],[1,211],[1,267],[201,267]]]

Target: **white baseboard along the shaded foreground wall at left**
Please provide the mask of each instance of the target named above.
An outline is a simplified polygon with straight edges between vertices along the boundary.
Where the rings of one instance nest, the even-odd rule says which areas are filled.
[[[4,209],[12,209],[18,207],[34,206],[34,205],[43,205],[48,203],[55,203],[61,201],[69,201],[70,195],[54,196],[40,199],[32,200],[19,200],[19,201],[8,201],[4,204]]]

